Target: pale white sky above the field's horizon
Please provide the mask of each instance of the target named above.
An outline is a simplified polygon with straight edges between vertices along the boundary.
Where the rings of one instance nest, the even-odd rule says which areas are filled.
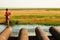
[[[0,8],[60,8],[60,0],[0,0]]]

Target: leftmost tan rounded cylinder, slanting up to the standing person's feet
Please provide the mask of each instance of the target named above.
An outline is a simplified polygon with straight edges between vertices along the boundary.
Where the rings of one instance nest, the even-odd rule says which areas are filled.
[[[12,28],[11,27],[5,28],[2,31],[2,33],[0,34],[0,40],[8,40],[11,33],[12,33]]]

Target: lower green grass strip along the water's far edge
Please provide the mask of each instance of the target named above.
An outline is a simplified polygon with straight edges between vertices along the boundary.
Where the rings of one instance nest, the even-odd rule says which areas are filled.
[[[21,22],[21,21],[15,21],[15,20],[10,20],[10,25],[21,25],[21,24],[23,24],[23,25],[28,25],[28,24],[30,24],[30,25],[56,25],[56,26],[58,26],[58,25],[60,25],[60,21],[49,21],[49,20],[46,20],[46,21],[44,21],[44,22],[42,22],[42,21],[39,21],[39,22],[25,22],[25,23],[23,23],[23,22]]]

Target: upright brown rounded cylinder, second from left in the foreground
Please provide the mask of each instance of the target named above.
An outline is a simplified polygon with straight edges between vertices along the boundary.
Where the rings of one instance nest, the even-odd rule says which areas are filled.
[[[18,40],[29,40],[29,39],[28,39],[28,30],[27,30],[27,29],[22,28],[22,29],[19,31]]]

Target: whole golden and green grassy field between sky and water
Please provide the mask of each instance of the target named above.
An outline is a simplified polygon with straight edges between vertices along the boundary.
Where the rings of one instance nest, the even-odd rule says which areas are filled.
[[[10,24],[60,25],[60,9],[10,9]],[[0,24],[5,23],[5,10],[0,9]]]

